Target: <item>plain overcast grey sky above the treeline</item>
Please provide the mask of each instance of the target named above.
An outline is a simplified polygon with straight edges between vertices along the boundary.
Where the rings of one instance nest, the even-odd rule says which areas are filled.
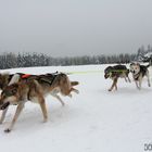
[[[152,0],[0,0],[0,51],[52,56],[152,45]]]

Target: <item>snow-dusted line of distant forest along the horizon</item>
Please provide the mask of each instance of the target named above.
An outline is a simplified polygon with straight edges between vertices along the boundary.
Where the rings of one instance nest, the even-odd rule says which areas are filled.
[[[149,55],[148,55],[149,54]],[[135,54],[121,53],[113,55],[84,55],[52,58],[43,53],[2,53],[0,54],[0,69],[30,66],[66,66],[66,65],[88,65],[88,64],[111,64],[130,63],[132,61],[149,62],[152,59],[152,48],[140,47]]]

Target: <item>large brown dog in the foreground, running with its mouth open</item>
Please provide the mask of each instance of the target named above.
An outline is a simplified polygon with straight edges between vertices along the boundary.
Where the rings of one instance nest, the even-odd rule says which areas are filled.
[[[58,93],[71,96],[72,91],[78,93],[78,90],[73,87],[76,85],[78,85],[78,81],[71,81],[67,75],[60,73],[52,81],[50,81],[49,78],[42,77],[38,79],[28,79],[26,81],[21,80],[20,83],[7,86],[2,90],[0,99],[0,110],[3,111],[0,123],[2,124],[4,121],[9,105],[17,105],[17,107],[11,125],[4,131],[10,132],[12,130],[27,101],[39,103],[43,115],[43,122],[47,122],[48,113],[45,97],[49,93],[53,96],[58,96]]]

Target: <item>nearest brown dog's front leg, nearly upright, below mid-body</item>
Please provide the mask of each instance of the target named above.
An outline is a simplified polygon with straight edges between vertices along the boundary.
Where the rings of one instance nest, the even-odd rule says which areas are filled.
[[[48,113],[47,113],[47,107],[46,107],[46,102],[43,97],[39,97],[39,104],[42,111],[42,115],[43,115],[43,123],[46,123],[48,121]]]

